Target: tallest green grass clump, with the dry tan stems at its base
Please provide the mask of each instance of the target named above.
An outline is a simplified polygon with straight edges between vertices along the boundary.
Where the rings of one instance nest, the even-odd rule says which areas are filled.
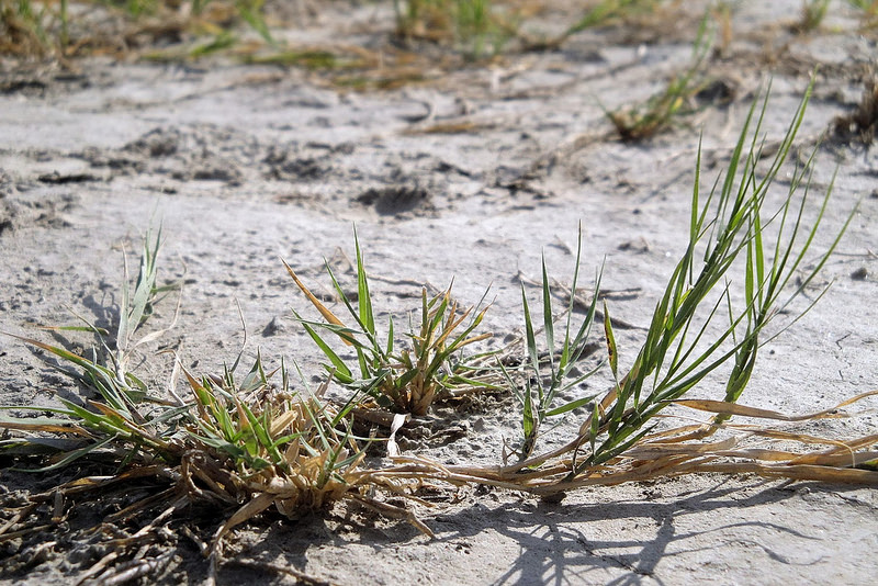
[[[777,335],[767,333],[768,325],[814,280],[844,232],[843,228],[829,248],[803,270],[832,191],[830,187],[818,206],[812,227],[804,228],[811,160],[793,171],[788,195],[779,209],[767,215],[764,211],[768,189],[792,148],[807,102],[806,97],[766,168],[758,165],[765,158],[758,140],[767,102],[763,103],[762,113],[754,103],[725,176],[717,179],[706,200],[700,188],[699,154],[686,251],[656,304],[646,339],[624,374],[618,371],[611,322],[605,315],[609,367],[616,384],[597,402],[578,433],[562,448],[516,464],[489,471],[454,469],[461,475],[459,480],[516,486],[542,495],[561,495],[592,484],[707,471],[756,472],[773,477],[830,482],[878,481],[874,472],[857,467],[868,467],[875,459],[876,454],[869,451],[874,437],[845,442],[842,447],[832,439],[821,440],[834,448],[810,455],[783,450],[735,451],[732,448],[739,438],[734,436],[714,443],[702,441],[720,429],[735,429],[728,424],[733,415],[785,419],[779,414],[736,403],[750,382],[759,349]],[[751,127],[753,138],[747,143]],[[774,241],[768,238],[768,225],[775,230]],[[743,271],[740,279],[733,278],[735,270]],[[735,284],[739,290],[733,295]],[[711,297],[718,286],[719,293]],[[743,301],[732,302],[739,297]],[[712,328],[723,315],[725,325],[717,333]],[[722,401],[684,399],[721,368],[728,369]],[[854,401],[870,394],[875,393]],[[701,425],[658,428],[656,417],[673,405],[716,415]],[[830,409],[811,417],[831,413]],[[803,443],[814,440],[795,433],[772,433],[765,431],[764,437]],[[717,463],[721,458],[731,461]],[[522,474],[525,471],[527,474]]]

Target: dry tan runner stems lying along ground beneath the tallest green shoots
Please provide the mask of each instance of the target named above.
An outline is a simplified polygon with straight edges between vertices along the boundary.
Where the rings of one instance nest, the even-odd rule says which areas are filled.
[[[605,401],[614,396],[611,390]],[[874,396],[871,391],[848,398],[838,405],[804,416],[786,416],[767,409],[730,405],[723,402],[677,402],[710,413],[729,413],[780,421],[810,421],[836,415],[837,409]],[[599,413],[599,412],[598,412]],[[589,421],[590,424],[590,421]],[[724,430],[732,437],[706,443],[702,430]],[[709,435],[709,433],[707,433]],[[878,485],[878,472],[856,466],[871,465],[878,460],[878,435],[852,440],[822,438],[783,429],[757,428],[743,425],[687,425],[644,437],[624,453],[578,475],[572,475],[575,455],[582,437],[548,454],[531,458],[521,466],[441,466],[424,459],[397,458],[394,473],[415,475],[421,481],[434,480],[450,484],[483,484],[541,496],[552,496],[594,485],[615,485],[627,482],[651,481],[660,477],[721,472],[725,474],[754,473],[770,478],[807,480],[830,483]],[[751,446],[738,449],[744,440],[767,440],[775,446]],[[789,444],[829,446],[821,451],[799,452]],[[525,472],[526,467],[532,470]],[[385,472],[384,474],[389,474]]]

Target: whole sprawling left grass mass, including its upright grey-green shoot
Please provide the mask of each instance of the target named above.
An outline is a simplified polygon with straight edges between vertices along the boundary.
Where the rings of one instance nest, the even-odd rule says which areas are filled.
[[[199,503],[237,509],[212,536],[212,545],[205,553],[214,561],[219,559],[222,539],[232,528],[272,506],[285,517],[297,518],[352,500],[384,515],[409,519],[429,533],[405,508],[372,496],[382,486],[403,494],[407,484],[404,477],[390,481],[362,467],[368,440],[354,437],[350,430],[348,413],[352,405],[340,408],[323,401],[328,382],[316,392],[311,392],[304,382],[301,390],[295,390],[283,361],[279,369],[267,373],[260,357],[238,380],[239,356],[222,376],[195,376],[178,361],[172,382],[182,372],[189,383],[189,398],[173,390],[173,401],[150,393],[127,363],[134,348],[166,331],[132,341],[151,314],[157,296],[165,291],[156,286],[157,252],[158,238],[151,243],[148,239],[134,288],[123,288],[115,347],[105,339],[104,330],[90,325],[66,329],[87,329],[98,337],[102,351],[94,350],[91,357],[21,338],[60,359],[56,368],[93,398],[59,397],[60,407],[14,407],[52,413],[54,417],[0,416],[0,428],[25,433],[3,439],[0,449],[25,460],[42,459],[41,454],[48,451],[52,455],[45,465],[25,469],[32,472],[49,472],[85,460],[109,459],[119,466],[115,475],[79,478],[50,493],[55,495],[72,496],[83,488],[97,492],[120,481],[151,477],[158,482],[157,492],[130,505],[124,516],[119,516],[131,521],[155,514],[156,506],[167,506],[148,528],[165,527],[172,522],[169,518],[173,512]],[[278,376],[280,384],[273,382]],[[59,438],[48,441],[42,433]],[[43,497],[55,498],[34,498],[40,502]],[[3,531],[13,525],[14,521],[5,525]],[[146,532],[138,534],[144,537]],[[125,543],[125,551],[131,551],[144,541],[132,539]]]

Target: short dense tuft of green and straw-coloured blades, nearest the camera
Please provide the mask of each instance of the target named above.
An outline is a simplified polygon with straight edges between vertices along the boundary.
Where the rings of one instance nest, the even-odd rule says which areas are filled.
[[[328,383],[315,393],[294,392],[283,365],[280,372],[279,390],[271,387],[260,359],[238,384],[234,369],[219,381],[187,373],[195,396],[180,455],[187,494],[229,506],[245,502],[216,530],[214,548],[233,527],[269,507],[295,519],[346,499],[408,518],[430,533],[405,509],[369,496],[379,486],[402,493],[404,485],[361,467],[365,451],[362,438],[351,432],[350,406],[323,402]]]

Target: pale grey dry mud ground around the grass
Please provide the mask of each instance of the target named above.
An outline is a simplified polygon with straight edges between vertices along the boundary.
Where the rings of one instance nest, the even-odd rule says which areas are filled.
[[[350,286],[354,224],[382,316],[416,308],[423,285],[438,290],[453,278],[465,304],[491,286],[486,329],[502,345],[520,335],[519,281],[539,280],[541,253],[550,274],[570,281],[582,223],[584,273],[590,278],[604,262],[612,314],[645,325],[685,245],[699,133],[710,183],[766,79],[770,140],[783,136],[820,64],[796,155],[804,157],[857,104],[874,65],[874,36],[857,34],[841,8],[824,31],[796,36],[786,25],[799,2],[762,4],[739,3],[742,33],[711,61],[727,99],[705,95],[698,114],[641,144],[615,138],[601,104],[616,109],[663,87],[689,60],[688,29],[679,38],[644,42],[586,32],[559,50],[511,54],[365,93],[299,69],[224,63],[93,59],[74,74],[8,67],[0,94],[0,330],[40,337],[36,326],[74,322],[70,309],[112,325],[122,251],[131,263],[143,233],[159,223],[160,279],[185,286],[177,325],[143,351],[139,372],[158,387],[171,362],[159,350],[177,349],[199,372],[235,359],[244,343],[238,305],[246,356],[258,349],[272,365],[295,358],[317,374],[319,357],[291,313],[309,307],[280,259],[328,293],[327,258]],[[356,8],[347,20],[324,14],[305,33],[331,38],[359,22],[358,30],[372,23],[373,34],[386,35],[391,20],[375,10]],[[754,30],[761,33],[743,33]],[[428,132],[441,124],[465,132]],[[878,150],[831,140],[818,155],[815,191],[837,169],[820,247],[860,205],[818,283],[834,281],[829,294],[765,348],[742,399],[785,413],[831,407],[878,384]],[[818,293],[809,289],[796,307]],[[172,306],[159,306],[156,323],[167,324]],[[643,330],[617,336],[620,360],[630,364]],[[604,383],[588,384],[596,391]],[[0,403],[48,405],[55,392],[70,390],[38,356],[0,338]],[[722,388],[708,383],[696,394],[720,398]],[[409,449],[442,462],[493,464],[518,433],[508,396],[475,401],[451,422],[427,428]],[[866,414],[800,429],[854,437],[875,426]],[[0,491],[11,498],[76,474],[0,470]],[[875,575],[877,506],[869,488],[751,476],[586,489],[561,504],[479,489],[419,510],[434,540],[404,521],[334,510],[297,521],[257,518],[235,530],[227,554],[345,585],[865,584]],[[83,507],[80,517],[104,514]],[[216,511],[214,521],[225,515]],[[33,548],[33,559],[4,571],[0,583],[75,583],[103,552],[97,540],[65,530],[5,542],[0,557],[21,559]],[[54,543],[37,551],[41,540]],[[143,579],[205,579],[192,541],[181,537],[164,551]],[[227,566],[218,575],[221,584],[244,581],[296,578],[264,567]]]

